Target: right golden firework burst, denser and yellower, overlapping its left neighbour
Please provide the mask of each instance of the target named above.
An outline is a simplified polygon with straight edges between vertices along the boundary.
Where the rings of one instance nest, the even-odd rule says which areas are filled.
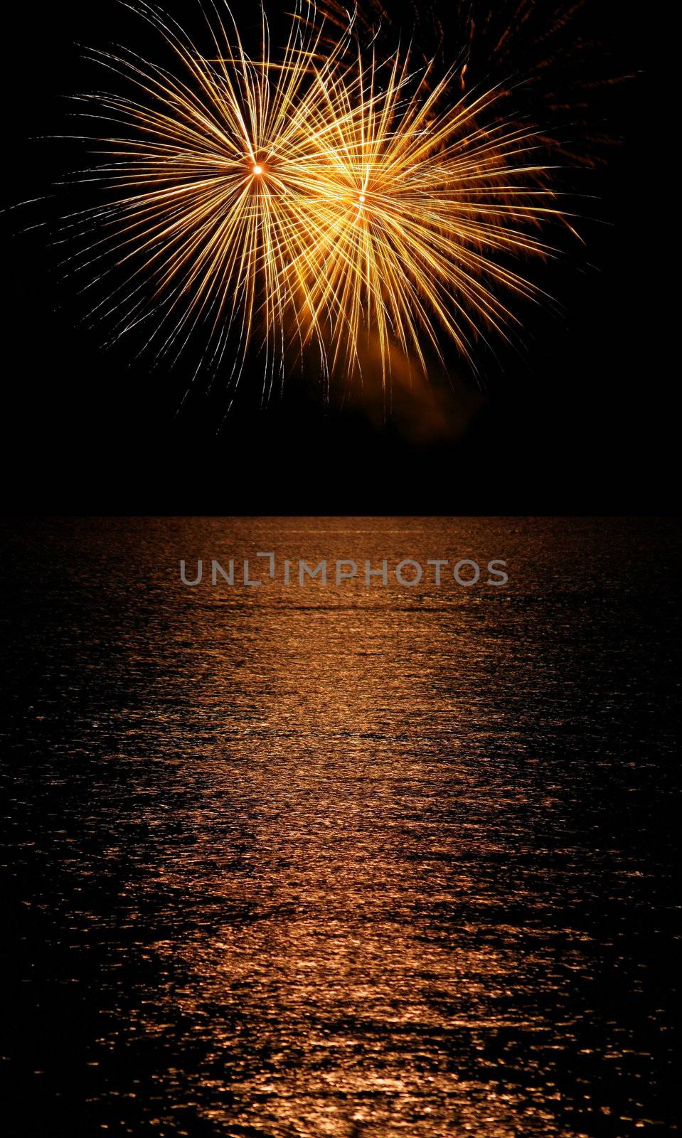
[[[339,135],[324,179],[331,189],[318,209],[317,240],[302,258],[307,300],[315,312],[322,305],[334,312],[334,362],[344,343],[348,369],[363,324],[378,332],[384,368],[392,337],[426,369],[421,337],[439,354],[437,325],[467,354],[482,324],[504,335],[503,324],[516,316],[493,286],[526,297],[536,290],[492,254],[549,255],[527,223],[559,215],[548,190],[531,189],[544,173],[531,159],[533,135],[477,125],[494,92],[434,117],[451,76],[430,90],[422,76],[405,100],[408,66],[395,56],[376,92],[376,63],[363,68],[360,59],[342,106],[329,106]]]

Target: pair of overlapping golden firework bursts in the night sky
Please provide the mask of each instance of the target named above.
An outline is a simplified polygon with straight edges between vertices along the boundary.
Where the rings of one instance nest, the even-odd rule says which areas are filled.
[[[443,332],[469,357],[478,336],[507,335],[513,298],[539,295],[509,259],[552,255],[541,231],[562,214],[536,137],[491,116],[499,92],[453,105],[454,72],[434,82],[409,51],[378,60],[352,19],[329,47],[304,2],[277,59],[263,13],[253,58],[217,2],[211,56],[143,0],[175,66],[97,53],[132,93],[97,97],[118,132],[87,175],[106,201],[68,222],[93,234],[79,271],[115,265],[95,313],[115,315],[116,335],[156,318],[159,357],[202,325],[203,369],[233,348],[228,384],[255,341],[265,394],[313,343],[324,376],[351,376],[373,333],[386,384],[392,345],[426,370]]]

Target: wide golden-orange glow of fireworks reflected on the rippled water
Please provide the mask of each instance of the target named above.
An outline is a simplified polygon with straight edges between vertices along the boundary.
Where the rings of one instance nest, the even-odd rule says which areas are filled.
[[[606,762],[590,693],[607,673],[617,692],[615,651],[583,652],[572,585],[592,538],[572,546],[560,521],[551,541],[547,522],[363,522],[162,520],[147,545],[135,530],[146,585],[112,607],[122,711],[100,759],[116,818],[134,803],[106,855],[132,930],[112,975],[129,958],[154,972],[134,997],[113,981],[99,1045],[151,1041],[159,1058],[92,1100],[146,1094],[162,1138],[647,1129],[636,1080],[621,1114],[599,1091],[605,1064],[621,1078],[648,1053],[597,1007],[605,945],[625,957],[594,907],[627,898],[642,863],[600,850],[589,820]],[[176,577],[180,556],[270,549],[515,571],[494,593]],[[593,632],[613,616],[591,604]]]

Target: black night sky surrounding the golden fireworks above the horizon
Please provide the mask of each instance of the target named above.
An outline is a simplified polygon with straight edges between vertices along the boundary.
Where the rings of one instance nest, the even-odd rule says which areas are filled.
[[[642,26],[621,5],[587,3],[605,69],[643,72]],[[190,0],[175,5],[188,11]],[[95,9],[95,10],[93,10]],[[397,17],[397,11],[395,13]],[[598,14],[598,15],[597,15]],[[581,34],[589,30],[584,23]],[[106,46],[115,2],[32,3],[7,33],[6,205],[50,192],[64,168],[68,92],[95,83],[76,44]],[[125,25],[129,26],[128,24]],[[594,58],[594,57],[592,57]],[[543,284],[559,312],[526,311],[523,343],[482,353],[483,385],[451,361],[453,390],[398,390],[384,421],[370,398],[326,405],[291,377],[265,411],[244,396],[222,418],[220,393],[176,414],[182,376],[150,376],[125,346],[106,353],[79,327],[54,271],[48,226],[61,206],[3,217],[2,462],[11,511],[181,513],[649,513],[673,509],[674,395],[662,363],[652,287],[648,79],[594,94],[607,166],[583,172],[595,222]],[[376,404],[376,405],[373,405]]]

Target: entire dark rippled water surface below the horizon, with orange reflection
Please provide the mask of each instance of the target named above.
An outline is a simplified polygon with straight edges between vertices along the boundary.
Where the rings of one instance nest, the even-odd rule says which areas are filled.
[[[3,537],[5,1132],[673,1132],[674,522]],[[510,583],[180,584],[261,550]]]

